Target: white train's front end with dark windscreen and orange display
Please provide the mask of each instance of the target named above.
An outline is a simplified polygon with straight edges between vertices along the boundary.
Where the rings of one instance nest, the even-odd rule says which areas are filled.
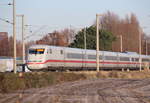
[[[41,70],[43,68],[46,68],[44,48],[30,48],[29,49],[27,67],[31,71]]]

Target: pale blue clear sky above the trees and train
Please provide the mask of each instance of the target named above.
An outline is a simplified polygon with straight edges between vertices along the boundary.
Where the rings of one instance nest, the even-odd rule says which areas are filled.
[[[12,21],[12,7],[5,4],[12,0],[0,0],[0,18]],[[16,13],[24,14],[26,23],[34,25],[26,32],[52,32],[65,27],[82,28],[95,21],[96,13],[108,10],[121,18],[134,13],[144,31],[150,35],[150,0],[16,0]],[[21,20],[17,18],[17,34],[20,34]],[[0,21],[0,31],[12,33],[12,26]],[[19,37],[19,36],[18,36]]]

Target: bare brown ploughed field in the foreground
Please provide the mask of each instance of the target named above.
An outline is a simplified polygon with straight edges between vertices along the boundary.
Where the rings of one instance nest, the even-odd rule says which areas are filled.
[[[16,103],[16,101],[18,103],[150,103],[150,79],[93,79],[0,94],[0,103]]]

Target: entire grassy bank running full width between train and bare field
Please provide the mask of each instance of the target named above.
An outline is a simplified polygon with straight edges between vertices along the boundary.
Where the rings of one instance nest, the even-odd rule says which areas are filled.
[[[41,88],[69,81],[97,78],[143,79],[150,78],[150,71],[82,71],[82,72],[35,72],[19,74],[0,73],[0,92],[14,92],[29,88]]]

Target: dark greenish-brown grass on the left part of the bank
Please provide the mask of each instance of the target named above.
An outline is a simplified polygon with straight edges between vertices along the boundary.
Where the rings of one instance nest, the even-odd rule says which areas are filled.
[[[6,93],[14,90],[40,88],[85,78],[83,74],[74,73],[24,73],[22,78],[18,74],[0,73],[0,92]]]

